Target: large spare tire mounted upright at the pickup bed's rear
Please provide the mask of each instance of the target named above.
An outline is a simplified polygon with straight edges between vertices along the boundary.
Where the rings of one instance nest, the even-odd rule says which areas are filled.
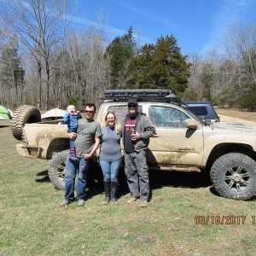
[[[11,121],[11,130],[13,136],[21,141],[22,128],[26,124],[38,123],[41,121],[41,113],[38,108],[29,105],[22,105],[17,108]]]

